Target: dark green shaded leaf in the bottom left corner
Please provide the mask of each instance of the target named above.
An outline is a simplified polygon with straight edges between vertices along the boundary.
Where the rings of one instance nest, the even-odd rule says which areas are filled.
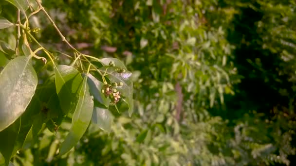
[[[16,139],[19,134],[20,119],[15,121],[8,128],[0,132],[0,152],[5,159],[5,165],[8,166],[11,156],[13,155]]]

